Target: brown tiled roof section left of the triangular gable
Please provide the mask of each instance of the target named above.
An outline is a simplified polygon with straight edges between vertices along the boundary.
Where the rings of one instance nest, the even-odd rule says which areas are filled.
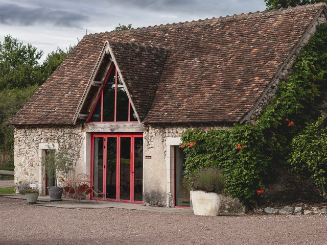
[[[85,86],[102,50],[103,42],[99,40],[99,44],[95,45],[83,38],[32,99],[7,124],[72,124]]]

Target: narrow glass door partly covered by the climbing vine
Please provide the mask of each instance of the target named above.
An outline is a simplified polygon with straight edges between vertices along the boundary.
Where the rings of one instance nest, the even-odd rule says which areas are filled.
[[[184,159],[183,150],[175,146],[175,206],[177,207],[190,207],[190,190],[185,178]]]

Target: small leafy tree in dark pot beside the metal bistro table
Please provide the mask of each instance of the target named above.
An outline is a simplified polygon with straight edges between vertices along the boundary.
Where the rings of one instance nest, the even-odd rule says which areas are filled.
[[[62,149],[59,151],[48,151],[44,165],[46,168],[46,174],[51,176],[55,181],[55,186],[47,187],[50,195],[50,202],[62,201],[61,196],[63,187],[58,186],[58,179],[59,177],[66,176],[74,168],[69,155],[69,150]]]

